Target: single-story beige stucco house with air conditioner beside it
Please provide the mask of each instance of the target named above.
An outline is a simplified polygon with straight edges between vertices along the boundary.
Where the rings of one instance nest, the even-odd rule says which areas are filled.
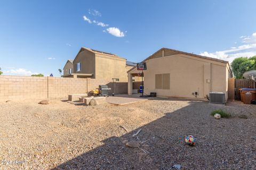
[[[143,62],[144,92],[156,92],[159,97],[205,99],[209,92],[224,92],[228,98],[228,78],[233,77],[227,61],[161,48]],[[128,73],[128,93],[132,94],[132,79],[138,76],[134,66]]]

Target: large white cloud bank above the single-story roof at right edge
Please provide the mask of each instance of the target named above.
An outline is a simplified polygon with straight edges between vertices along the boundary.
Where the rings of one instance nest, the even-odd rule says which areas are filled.
[[[231,63],[237,57],[252,57],[256,55],[256,32],[251,36],[241,36],[243,45],[213,53],[202,52],[199,55],[226,60]]]

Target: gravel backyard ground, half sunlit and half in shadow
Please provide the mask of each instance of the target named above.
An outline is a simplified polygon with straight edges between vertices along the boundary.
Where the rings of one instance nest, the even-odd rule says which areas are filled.
[[[219,108],[231,118],[214,119],[210,113]],[[0,122],[0,169],[256,169],[256,105],[239,101],[75,106],[30,100],[0,103]],[[186,135],[194,135],[195,147],[185,144]],[[126,147],[130,140],[143,143]]]

